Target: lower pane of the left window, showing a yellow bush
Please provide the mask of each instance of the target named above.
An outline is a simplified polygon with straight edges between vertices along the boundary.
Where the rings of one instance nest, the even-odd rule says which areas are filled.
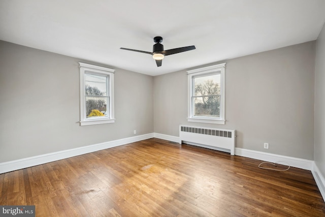
[[[86,97],[86,118],[108,117],[108,97]]]

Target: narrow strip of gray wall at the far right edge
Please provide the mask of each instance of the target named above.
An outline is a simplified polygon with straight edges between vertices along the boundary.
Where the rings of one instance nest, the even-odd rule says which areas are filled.
[[[314,161],[325,176],[325,26],[316,41],[315,61],[315,154]]]

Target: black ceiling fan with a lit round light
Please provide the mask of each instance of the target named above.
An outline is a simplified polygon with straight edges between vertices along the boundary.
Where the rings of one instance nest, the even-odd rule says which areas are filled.
[[[128,48],[123,48],[121,47],[120,49],[123,50],[131,50],[131,51],[136,51],[136,52],[140,52],[140,53],[147,53],[147,54],[151,54],[152,57],[156,60],[156,64],[157,67],[161,66],[161,63],[163,61],[163,58],[165,56],[168,55],[172,55],[175,53],[181,53],[181,52],[185,52],[185,51],[189,51],[189,50],[194,50],[195,46],[187,46],[187,47],[179,47],[179,48],[174,48],[174,49],[170,49],[170,50],[164,50],[164,45],[160,44],[161,42],[163,42],[163,38],[160,36],[156,36],[153,38],[153,41],[155,42],[155,44],[153,45],[152,48],[152,52],[148,52],[148,51],[142,51],[142,50],[134,50],[134,49],[128,49]]]

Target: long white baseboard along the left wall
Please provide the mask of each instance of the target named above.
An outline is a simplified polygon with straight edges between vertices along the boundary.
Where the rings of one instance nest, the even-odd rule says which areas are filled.
[[[11,172],[14,170],[24,169],[24,168],[32,167],[32,166],[36,166],[36,165],[41,165],[41,164],[45,164],[45,163],[49,163],[49,162],[53,162],[53,161],[58,161],[58,160],[66,159],[66,158],[71,158],[71,157],[75,157],[75,156],[78,156],[81,154],[99,151],[99,150],[103,150],[106,148],[112,148],[112,147],[116,147],[119,145],[125,145],[125,144],[132,143],[132,142],[138,142],[138,141],[150,139],[153,137],[154,137],[154,134],[150,133],[150,134],[145,134],[145,135],[140,135],[140,136],[128,137],[125,139],[118,139],[118,140],[114,140],[114,141],[103,142],[103,143],[99,143],[99,144],[63,150],[63,151],[56,151],[56,152],[52,152],[52,153],[42,154],[39,156],[19,159],[19,160],[15,160],[15,161],[4,162],[4,163],[0,163],[0,174],[6,173],[6,172]]]

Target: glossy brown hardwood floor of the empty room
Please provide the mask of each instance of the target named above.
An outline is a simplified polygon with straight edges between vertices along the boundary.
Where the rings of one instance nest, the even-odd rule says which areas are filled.
[[[0,174],[0,205],[36,205],[36,216],[325,216],[310,171],[259,163],[148,139]]]

